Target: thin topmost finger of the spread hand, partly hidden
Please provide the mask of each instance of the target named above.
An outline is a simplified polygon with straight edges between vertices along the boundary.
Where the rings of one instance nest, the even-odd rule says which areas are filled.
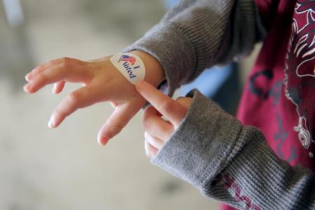
[[[57,64],[66,63],[66,62],[81,62],[79,59],[62,57],[58,59],[52,59],[49,62],[36,66],[35,69],[31,70],[27,75],[25,75],[25,79],[29,82],[32,78],[34,78],[38,73],[45,71],[46,69],[51,68]]]

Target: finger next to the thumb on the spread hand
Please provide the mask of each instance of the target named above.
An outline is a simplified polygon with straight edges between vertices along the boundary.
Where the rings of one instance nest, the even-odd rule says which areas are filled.
[[[85,86],[71,92],[69,96],[62,100],[52,112],[48,122],[49,127],[57,127],[62,123],[64,118],[71,115],[79,108],[90,106],[102,101],[102,92],[98,87]]]

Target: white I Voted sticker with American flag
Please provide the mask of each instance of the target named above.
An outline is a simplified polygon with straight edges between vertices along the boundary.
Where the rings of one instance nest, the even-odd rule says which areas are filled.
[[[132,84],[144,80],[146,68],[144,62],[137,55],[130,53],[119,53],[110,58],[111,63],[127,78]]]

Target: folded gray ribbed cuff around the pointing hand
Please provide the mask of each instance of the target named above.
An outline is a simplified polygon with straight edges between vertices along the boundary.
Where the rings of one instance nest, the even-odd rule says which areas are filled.
[[[227,164],[241,124],[197,90],[186,117],[151,162],[202,190]]]

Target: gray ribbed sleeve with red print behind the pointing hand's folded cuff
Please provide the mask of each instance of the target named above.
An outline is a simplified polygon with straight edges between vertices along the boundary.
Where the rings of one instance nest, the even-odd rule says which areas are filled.
[[[314,174],[280,160],[255,127],[242,127],[224,162],[216,179],[204,183],[208,197],[225,197],[225,202],[241,209],[314,209]]]

